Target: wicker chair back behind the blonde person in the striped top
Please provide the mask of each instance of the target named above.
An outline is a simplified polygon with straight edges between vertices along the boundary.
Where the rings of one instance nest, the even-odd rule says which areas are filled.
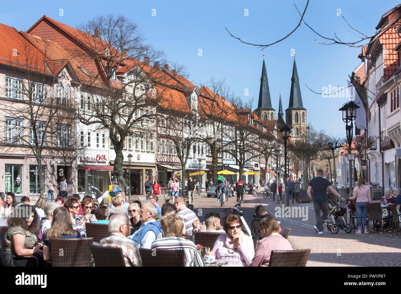
[[[139,248],[139,253],[143,266],[185,266],[184,250]]]

